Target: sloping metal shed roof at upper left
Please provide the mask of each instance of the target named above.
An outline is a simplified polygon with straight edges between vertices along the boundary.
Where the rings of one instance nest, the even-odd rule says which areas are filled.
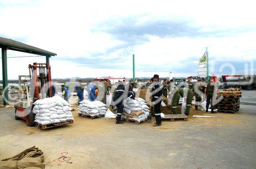
[[[53,53],[44,49],[40,49],[34,46],[27,45],[25,43],[17,42],[12,39],[2,38],[2,37],[0,37],[0,47],[1,46],[8,47],[10,50],[40,54],[45,56],[57,55],[56,53]]]

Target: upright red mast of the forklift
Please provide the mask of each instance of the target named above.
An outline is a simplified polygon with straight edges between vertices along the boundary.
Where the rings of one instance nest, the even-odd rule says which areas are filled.
[[[38,99],[52,97],[51,67],[49,63],[33,63],[29,65],[29,75],[32,89],[34,89],[33,102]],[[41,98],[40,95],[41,94]]]

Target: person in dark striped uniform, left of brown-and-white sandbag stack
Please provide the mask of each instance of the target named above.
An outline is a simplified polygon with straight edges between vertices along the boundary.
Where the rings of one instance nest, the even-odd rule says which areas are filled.
[[[114,102],[117,107],[116,124],[122,124],[121,116],[123,114],[123,102],[124,102],[124,85],[123,82],[118,82],[118,86],[115,91]]]

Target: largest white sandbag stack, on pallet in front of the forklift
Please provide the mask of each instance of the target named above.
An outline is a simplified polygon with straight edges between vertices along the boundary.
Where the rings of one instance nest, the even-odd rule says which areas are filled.
[[[36,100],[33,107],[35,121],[40,125],[74,120],[70,104],[59,96]]]

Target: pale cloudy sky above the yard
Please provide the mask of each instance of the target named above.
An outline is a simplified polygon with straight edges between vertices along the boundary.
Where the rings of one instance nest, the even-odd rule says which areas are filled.
[[[210,74],[255,74],[254,2],[7,0],[0,37],[57,53],[53,78],[132,77],[132,54],[136,77],[197,75],[206,47]],[[28,74],[33,62],[45,58],[9,58],[8,78]]]

